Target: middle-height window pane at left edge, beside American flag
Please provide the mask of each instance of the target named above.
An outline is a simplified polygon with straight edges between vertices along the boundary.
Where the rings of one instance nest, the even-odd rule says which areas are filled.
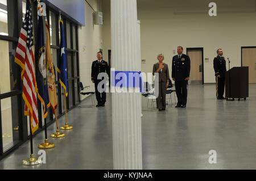
[[[0,93],[18,89],[19,67],[14,62],[16,43],[0,40]]]

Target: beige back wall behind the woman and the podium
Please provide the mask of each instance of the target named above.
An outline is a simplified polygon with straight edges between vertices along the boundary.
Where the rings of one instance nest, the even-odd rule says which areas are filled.
[[[241,66],[241,47],[256,46],[255,0],[216,0],[217,16],[208,15],[209,2],[138,0],[138,19],[141,20],[141,53],[146,64],[142,71],[151,72],[156,56],[163,53],[171,71],[173,50],[178,45],[186,48],[204,48],[204,82],[215,82],[213,58],[216,49],[232,60],[231,67]],[[110,1],[103,2],[104,50],[111,49]],[[192,62],[193,63],[193,62]],[[227,64],[228,67],[228,64]]]

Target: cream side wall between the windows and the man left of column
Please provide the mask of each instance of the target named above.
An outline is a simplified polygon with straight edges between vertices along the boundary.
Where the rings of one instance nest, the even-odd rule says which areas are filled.
[[[95,11],[98,8],[97,0],[89,0],[90,5]],[[99,1],[101,7],[101,1]],[[102,26],[93,24],[93,10],[85,2],[85,26],[79,27],[79,66],[80,66],[80,81],[84,86],[90,86],[86,91],[94,91],[94,84],[91,81],[92,62],[96,60],[96,54],[103,49],[102,44]],[[85,50],[84,50],[85,47]],[[82,97],[82,99],[85,96]]]

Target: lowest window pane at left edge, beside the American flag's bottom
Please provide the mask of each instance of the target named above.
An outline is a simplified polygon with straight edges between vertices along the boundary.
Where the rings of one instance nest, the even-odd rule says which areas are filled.
[[[3,152],[19,142],[18,96],[1,100]]]

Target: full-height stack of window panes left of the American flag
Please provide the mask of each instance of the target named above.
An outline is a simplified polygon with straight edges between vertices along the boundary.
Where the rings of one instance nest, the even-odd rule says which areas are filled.
[[[0,155],[22,140],[20,69],[14,62],[18,43],[17,5],[14,0],[0,0]]]

